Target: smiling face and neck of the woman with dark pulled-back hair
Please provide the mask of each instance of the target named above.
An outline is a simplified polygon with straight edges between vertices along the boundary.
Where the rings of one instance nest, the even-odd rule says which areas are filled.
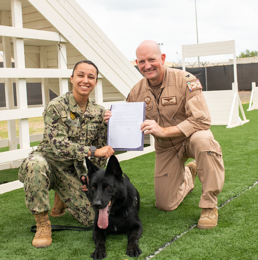
[[[88,63],[79,63],[71,76],[73,95],[78,102],[87,102],[97,84],[97,70]]]

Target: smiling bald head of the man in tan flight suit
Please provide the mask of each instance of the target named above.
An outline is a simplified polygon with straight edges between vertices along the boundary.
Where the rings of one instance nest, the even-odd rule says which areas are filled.
[[[154,41],[143,41],[136,49],[136,64],[142,75],[151,85],[158,85],[163,80],[166,55],[161,53],[159,44]]]

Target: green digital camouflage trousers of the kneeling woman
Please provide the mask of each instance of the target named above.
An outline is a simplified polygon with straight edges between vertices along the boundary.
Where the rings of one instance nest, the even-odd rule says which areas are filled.
[[[49,190],[54,190],[67,205],[70,214],[83,225],[92,225],[95,212],[73,165],[58,171],[41,154],[26,158],[20,167],[19,180],[24,183],[25,202],[32,214],[51,210]]]

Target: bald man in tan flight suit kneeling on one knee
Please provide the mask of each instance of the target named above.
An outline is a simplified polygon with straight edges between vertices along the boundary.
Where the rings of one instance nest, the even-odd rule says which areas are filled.
[[[224,184],[221,147],[210,131],[211,116],[202,85],[192,74],[168,68],[158,43],[143,41],[136,50],[136,64],[144,76],[130,91],[127,102],[146,102],[144,134],[155,138],[154,186],[156,207],[171,211],[202,183],[202,208],[198,228],[217,225],[217,195]],[[105,120],[111,116],[106,110]],[[185,167],[188,158],[196,161]]]

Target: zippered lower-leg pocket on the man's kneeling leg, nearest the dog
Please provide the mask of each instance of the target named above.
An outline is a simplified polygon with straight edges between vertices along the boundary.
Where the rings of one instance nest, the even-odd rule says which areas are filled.
[[[156,206],[158,209],[162,209],[173,203],[174,198],[171,189],[171,176],[169,170],[155,174],[154,187]]]

